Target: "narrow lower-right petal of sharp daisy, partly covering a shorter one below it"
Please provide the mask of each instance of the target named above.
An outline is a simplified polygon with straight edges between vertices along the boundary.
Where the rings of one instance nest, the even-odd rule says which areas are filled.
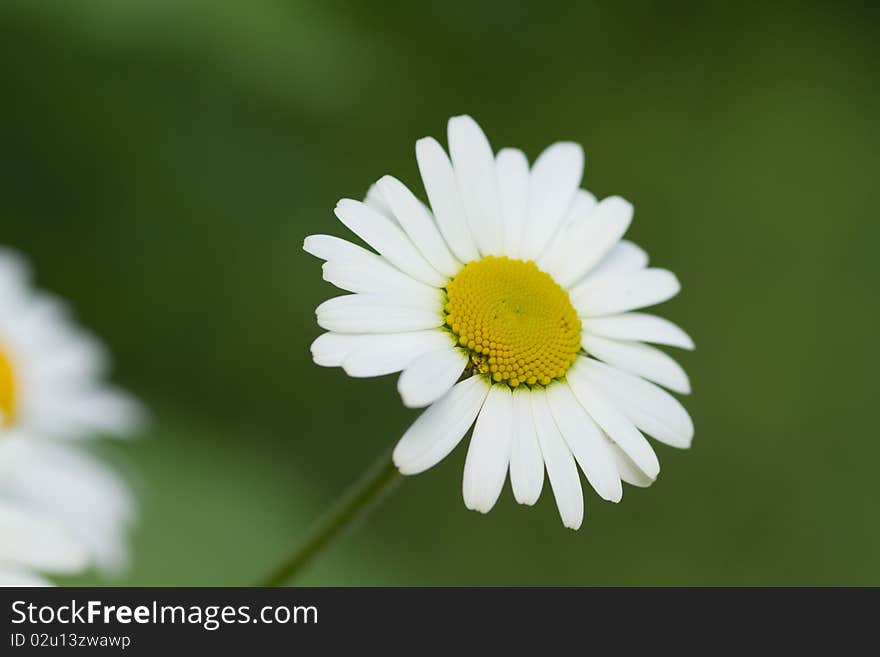
[[[657,454],[647,439],[636,429],[588,377],[583,374],[584,359],[578,359],[568,370],[568,384],[581,405],[587,409],[611,440],[620,445],[642,472],[651,479],[660,473],[660,462]]]

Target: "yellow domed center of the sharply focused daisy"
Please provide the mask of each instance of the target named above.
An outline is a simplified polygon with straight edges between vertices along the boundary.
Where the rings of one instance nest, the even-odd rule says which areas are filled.
[[[446,325],[474,370],[512,388],[565,375],[581,348],[581,321],[534,262],[487,256],[446,286]]]

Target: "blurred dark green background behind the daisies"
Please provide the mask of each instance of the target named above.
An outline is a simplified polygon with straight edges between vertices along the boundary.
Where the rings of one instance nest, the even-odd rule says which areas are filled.
[[[332,209],[472,114],[636,207],[697,342],[690,451],[563,529],[545,486],[488,516],[464,444],[312,585],[880,584],[880,15],[847,2],[0,5],[0,242],[151,407],[102,451],[141,522],[121,584],[247,585],[416,416],[311,363]],[[77,583],[100,581],[89,575]]]

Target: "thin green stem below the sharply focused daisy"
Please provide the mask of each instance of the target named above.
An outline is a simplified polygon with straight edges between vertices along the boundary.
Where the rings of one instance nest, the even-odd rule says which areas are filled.
[[[400,479],[390,453],[383,454],[318,519],[303,542],[260,586],[284,586],[301,575],[312,559],[352,529]]]

